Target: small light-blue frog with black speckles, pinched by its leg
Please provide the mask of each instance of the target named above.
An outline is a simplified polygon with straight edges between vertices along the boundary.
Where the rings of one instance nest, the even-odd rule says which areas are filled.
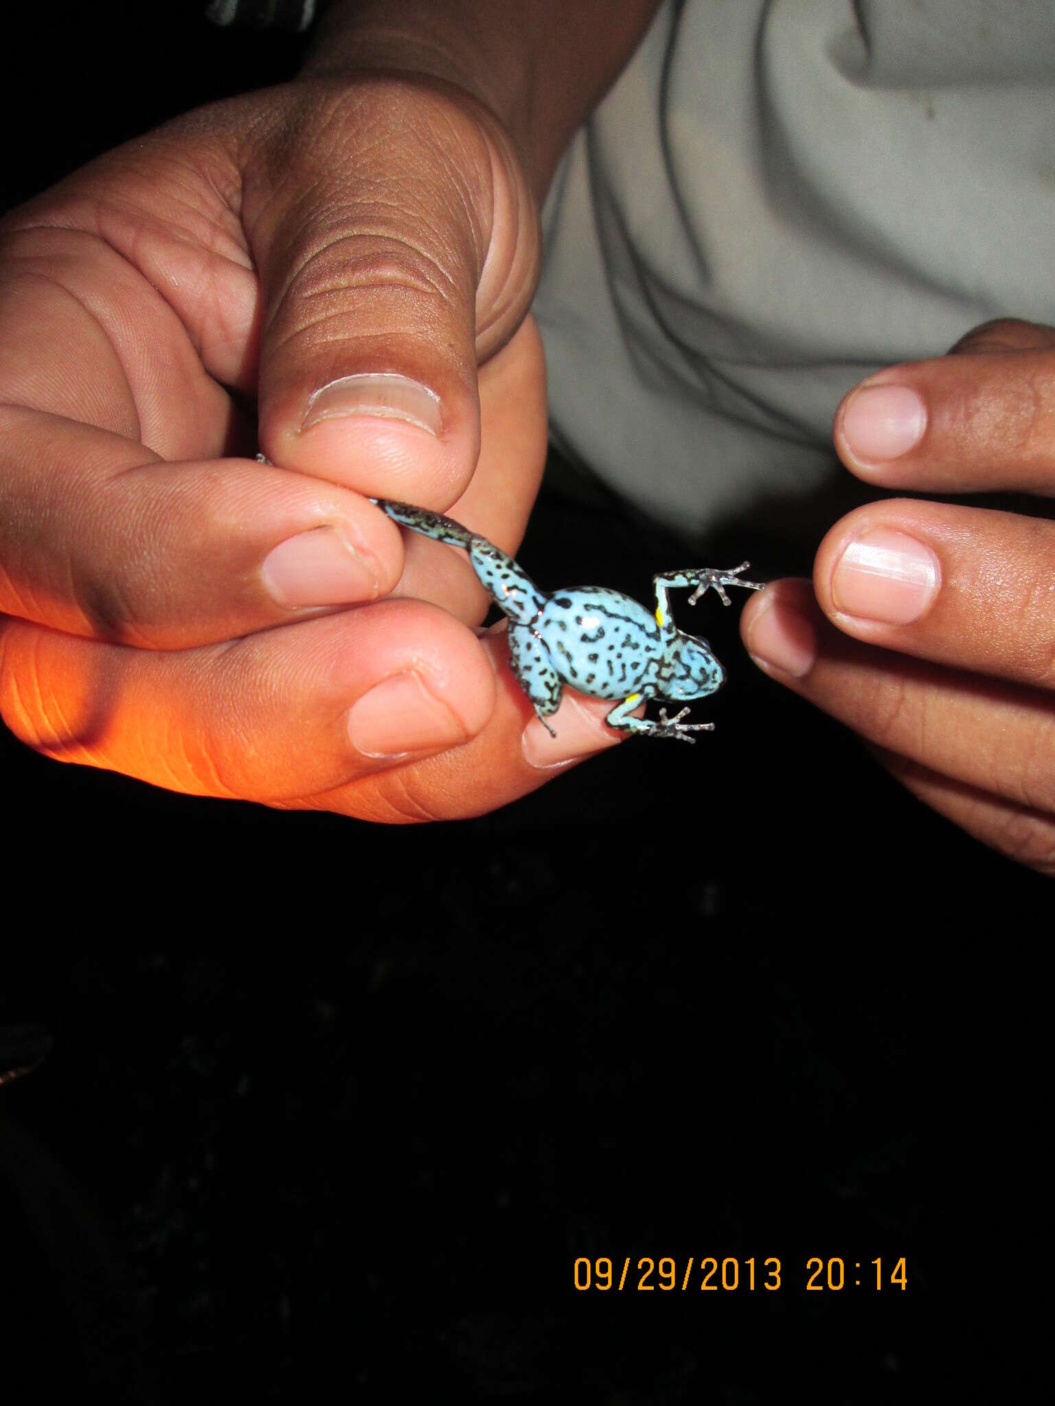
[[[693,742],[689,733],[713,728],[713,723],[682,723],[688,709],[675,717],[667,717],[663,709],[658,721],[632,714],[646,699],[699,699],[722,686],[724,672],[706,640],[671,624],[667,592],[693,586],[689,605],[695,605],[713,589],[729,605],[726,586],[764,589],[755,581],[741,579],[740,572],[748,562],[730,571],[677,571],[654,576],[656,610],[650,613],[630,596],[603,586],[578,586],[547,596],[512,557],[452,517],[381,498],[370,501],[401,526],[468,553],[484,589],[509,617],[512,671],[554,737],[546,718],[560,707],[565,683],[591,697],[618,700],[606,721],[625,733]]]

